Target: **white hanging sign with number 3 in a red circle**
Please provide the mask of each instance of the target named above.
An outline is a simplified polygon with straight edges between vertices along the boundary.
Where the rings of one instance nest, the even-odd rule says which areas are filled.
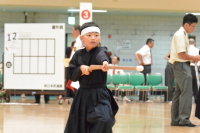
[[[80,25],[92,21],[92,3],[80,3]]]

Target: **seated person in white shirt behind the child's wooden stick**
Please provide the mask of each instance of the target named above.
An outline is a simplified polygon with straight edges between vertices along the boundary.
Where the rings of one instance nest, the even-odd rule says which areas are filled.
[[[120,58],[118,56],[113,56],[112,57],[112,64],[109,64],[109,65],[117,66],[119,61],[120,61]],[[110,74],[112,76],[113,74],[125,74],[125,73],[122,69],[109,69],[107,71],[107,74]],[[121,84],[121,85],[123,85],[123,84]],[[113,92],[113,95],[114,95],[114,92]],[[123,97],[124,102],[130,102],[131,101],[130,99],[128,99],[128,97],[125,96],[125,92],[122,92],[122,97]],[[117,97],[114,96],[114,98],[116,99]]]

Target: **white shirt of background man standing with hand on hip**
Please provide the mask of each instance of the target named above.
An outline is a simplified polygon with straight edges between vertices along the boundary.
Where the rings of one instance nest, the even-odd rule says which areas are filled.
[[[139,53],[142,55],[142,60],[144,62],[144,65],[151,64],[151,49],[148,45],[144,45],[141,49],[139,49],[136,53]]]

